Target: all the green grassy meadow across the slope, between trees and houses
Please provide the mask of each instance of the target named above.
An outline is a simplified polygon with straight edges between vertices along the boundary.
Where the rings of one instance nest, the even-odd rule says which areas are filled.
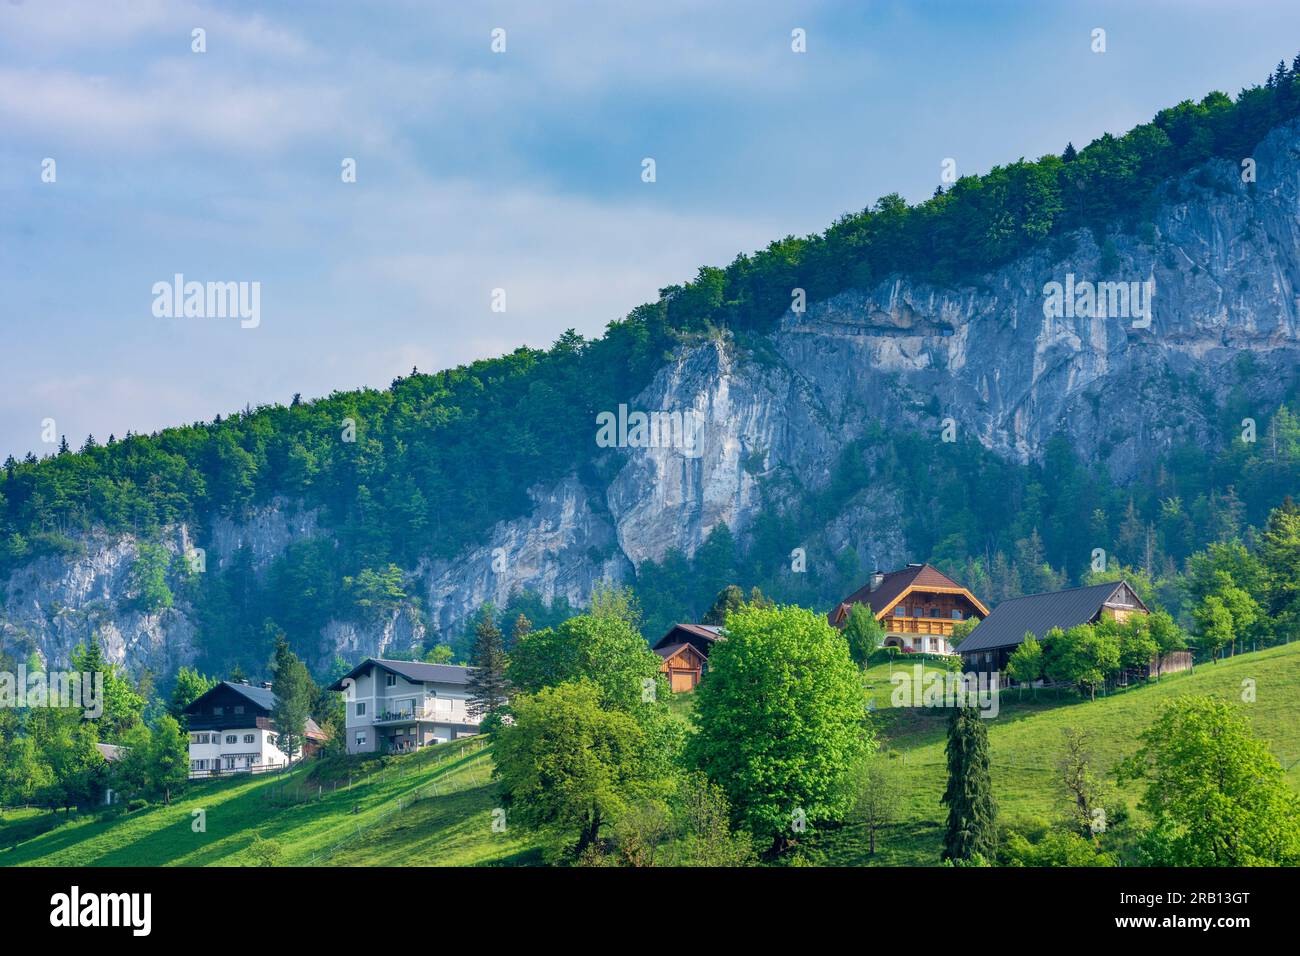
[[[852,823],[812,834],[798,851],[806,862],[932,865],[939,860],[945,715],[890,709],[888,670],[888,665],[872,667],[864,682],[878,708],[881,740],[904,780],[904,819],[880,834],[875,857],[867,856],[866,834]],[[1292,644],[1204,665],[1195,674],[1095,702],[1072,695],[1026,696],[1023,701],[1006,695],[1000,715],[989,722],[1001,818],[1034,826],[1060,814],[1054,767],[1062,728],[1091,728],[1097,761],[1109,769],[1136,749],[1138,734],[1162,701],[1188,693],[1240,700],[1245,679],[1256,682],[1256,702],[1243,704],[1254,731],[1300,790],[1300,644]],[[672,704],[685,719],[692,696],[677,696]],[[78,818],[46,832],[47,814],[9,813],[0,823],[0,865],[238,866],[252,862],[255,835],[280,844],[281,862],[287,865],[542,862],[528,834],[493,832],[497,801],[490,773],[490,749],[482,741],[455,741],[386,763],[347,761],[299,769],[283,778],[200,783],[172,806],[110,821]],[[1130,806],[1139,796],[1132,788],[1121,795]],[[207,812],[205,834],[191,831],[192,813],[199,809]]]

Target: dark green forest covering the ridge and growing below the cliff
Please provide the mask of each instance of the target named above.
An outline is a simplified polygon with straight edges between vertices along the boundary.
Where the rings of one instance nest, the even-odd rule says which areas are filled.
[[[1063,255],[1079,229],[1102,242],[1115,230],[1141,230],[1160,203],[1174,199],[1179,176],[1216,157],[1236,163],[1268,130],[1296,118],[1297,75],[1300,59],[1235,100],[1214,92],[1184,101],[1124,135],[963,177],[914,206],[887,195],[822,234],[785,237],[723,268],[701,268],[593,341],[568,332],[549,350],[412,371],[386,390],[286,395],[287,405],[153,436],[88,436],[79,451],[65,441],[43,459],[10,455],[0,468],[0,575],[42,555],[74,554],[92,529],[148,538],[186,522],[202,538],[213,516],[239,516],[280,496],[318,509],[329,533],[291,545],[265,575],[251,571],[243,551],[222,572],[191,575],[183,561],[169,567],[161,549],[144,549],[131,600],[147,611],[173,600],[192,607],[208,670],[239,663],[260,671],[270,649],[268,619],[309,657],[328,620],[416,604],[403,574],[524,512],[530,486],[569,472],[608,477],[610,463],[593,442],[595,411],[636,395],[684,341],[719,332],[754,341],[788,310],[794,287],[815,302],[898,273],[956,284],[1049,243]],[[1222,410],[1225,423],[1240,418],[1238,407]],[[702,610],[737,578],[784,601],[835,600],[861,583],[853,580],[859,568],[842,563],[837,575],[822,576],[818,594],[798,593],[809,583],[776,571],[811,516],[842,503],[870,473],[907,489],[913,553],[970,571],[972,587],[984,580],[971,576],[983,574],[994,592],[1032,591],[1045,566],[1074,580],[1084,559],[1074,541],[1084,528],[1091,540],[1115,542],[1126,563],[1150,551],[1157,566],[1179,562],[1225,522],[1234,531],[1257,522],[1294,489],[1295,420],[1278,419],[1280,440],[1268,454],[1175,447],[1152,463],[1154,480],[1132,492],[1092,473],[1069,446],[1050,449],[1041,466],[1020,467],[975,445],[939,460],[918,449],[915,436],[881,433],[846,447],[833,480],[809,501],[777,502],[751,541],[724,537],[694,561],[670,553],[638,567],[636,585],[655,626]],[[982,572],[966,568],[974,562]],[[738,574],[727,574],[737,564]],[[31,650],[23,633],[9,637],[18,657]]]

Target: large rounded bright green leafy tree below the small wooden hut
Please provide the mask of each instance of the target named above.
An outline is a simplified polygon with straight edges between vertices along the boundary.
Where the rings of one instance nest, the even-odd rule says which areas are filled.
[[[737,823],[776,849],[848,813],[848,777],[874,744],[864,718],[858,669],[823,615],[746,606],[710,652],[688,758],[723,788]]]

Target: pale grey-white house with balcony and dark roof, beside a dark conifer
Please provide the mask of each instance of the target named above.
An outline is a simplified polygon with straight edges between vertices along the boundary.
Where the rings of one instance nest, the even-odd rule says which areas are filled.
[[[478,732],[469,667],[367,658],[330,685],[347,701],[348,753],[406,753]]]

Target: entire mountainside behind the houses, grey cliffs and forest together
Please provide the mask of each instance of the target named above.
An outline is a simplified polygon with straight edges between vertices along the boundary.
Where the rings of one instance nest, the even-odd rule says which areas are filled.
[[[595,341],[10,457],[4,649],[261,672],[283,630],[324,670],[602,578],[647,631],[731,581],[828,605],[878,563],[994,600],[1095,549],[1156,578],[1300,490],[1297,116],[1280,68],[703,268]],[[1053,282],[1150,308],[1049,315]],[[620,405],[698,442],[604,447]]]

